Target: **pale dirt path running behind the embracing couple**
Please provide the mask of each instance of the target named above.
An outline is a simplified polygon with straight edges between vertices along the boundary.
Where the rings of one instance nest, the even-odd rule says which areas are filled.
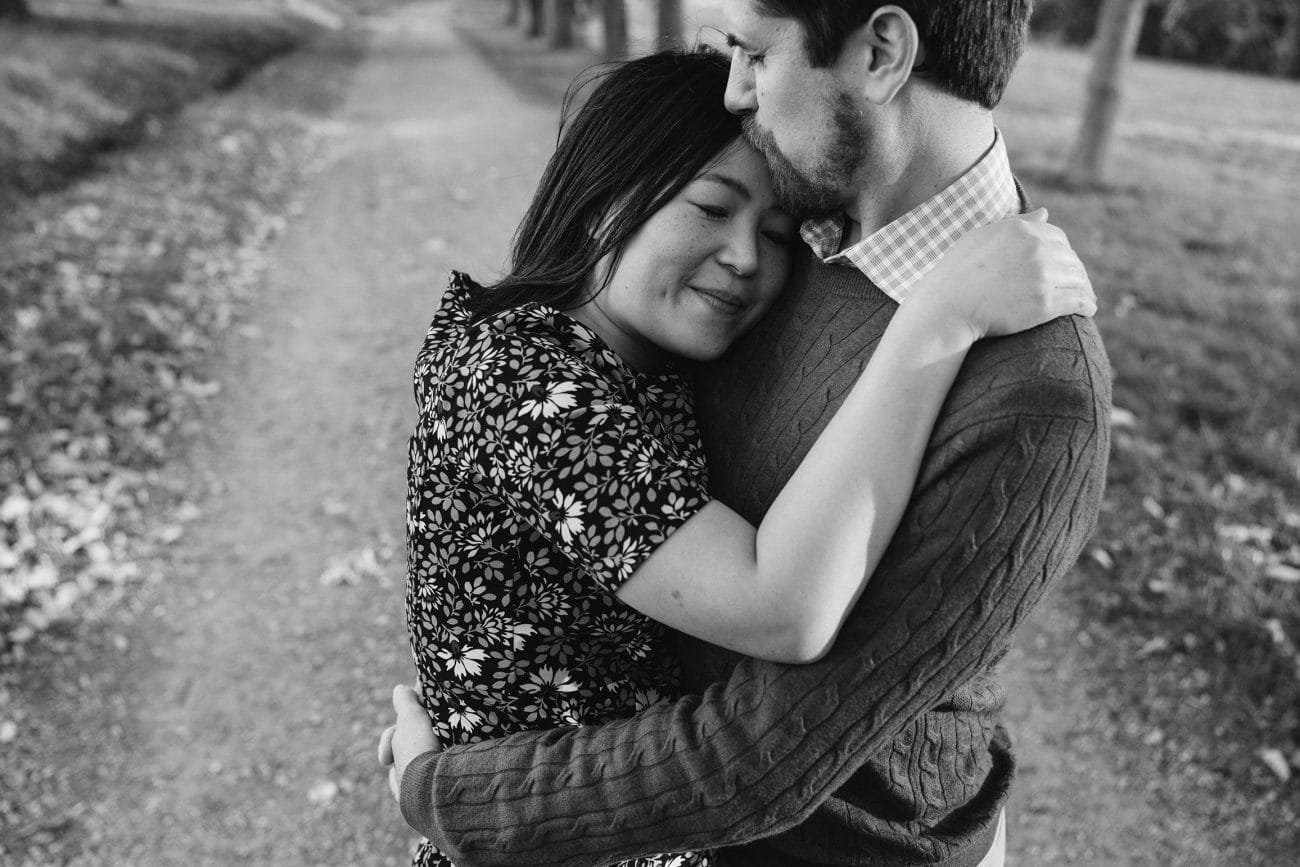
[[[555,123],[459,43],[447,12],[415,3],[376,25],[329,164],[277,248],[260,339],[221,377],[216,432],[192,456],[196,490],[216,493],[195,494],[203,517],[166,581],[96,640],[98,663],[44,688],[61,708],[49,760],[75,770],[66,797],[86,805],[74,863],[407,861],[372,753],[389,686],[411,676],[408,372],[446,270],[499,264]],[[376,573],[321,582],[367,549]],[[1040,617],[1009,666],[1017,863],[1179,862],[1136,854],[1152,809],[1092,758],[1106,729],[1075,711],[1091,685],[1070,624]]]

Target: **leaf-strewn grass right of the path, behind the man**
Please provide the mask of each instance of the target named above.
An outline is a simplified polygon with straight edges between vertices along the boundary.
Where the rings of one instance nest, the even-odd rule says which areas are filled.
[[[463,4],[464,31],[538,95],[556,100],[594,60],[525,43],[491,5]],[[716,3],[686,17],[720,21]],[[1153,797],[1249,863],[1287,863],[1300,844],[1300,789],[1283,780],[1300,776],[1300,84],[1139,61],[1109,186],[1072,190],[1057,178],[1087,69],[1084,52],[1035,44],[997,110],[1013,166],[1089,268],[1115,373],[1109,490],[1065,604],[1115,749],[1154,775]]]

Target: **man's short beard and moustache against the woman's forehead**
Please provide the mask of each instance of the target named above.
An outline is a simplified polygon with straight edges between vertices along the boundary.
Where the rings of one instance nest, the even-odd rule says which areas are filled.
[[[837,94],[831,101],[831,144],[818,164],[807,170],[796,166],[781,152],[772,133],[759,126],[753,114],[746,114],[741,125],[745,139],[767,162],[783,211],[797,220],[807,220],[831,216],[844,208],[853,175],[867,149],[866,130],[848,95]]]

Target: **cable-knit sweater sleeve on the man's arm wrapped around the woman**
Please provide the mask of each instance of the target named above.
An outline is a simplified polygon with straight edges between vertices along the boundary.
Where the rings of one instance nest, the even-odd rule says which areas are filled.
[[[904,524],[826,658],[746,659],[632,719],[428,754],[403,779],[407,820],[462,867],[576,867],[807,819],[1005,653],[1096,521],[1104,356],[994,361],[950,395]]]

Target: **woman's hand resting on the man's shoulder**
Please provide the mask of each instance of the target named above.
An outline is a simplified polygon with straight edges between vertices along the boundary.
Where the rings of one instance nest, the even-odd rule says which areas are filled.
[[[1065,233],[1046,218],[1039,208],[966,233],[918,282],[902,309],[966,328],[972,342],[1058,316],[1093,316],[1097,296],[1088,272]]]

